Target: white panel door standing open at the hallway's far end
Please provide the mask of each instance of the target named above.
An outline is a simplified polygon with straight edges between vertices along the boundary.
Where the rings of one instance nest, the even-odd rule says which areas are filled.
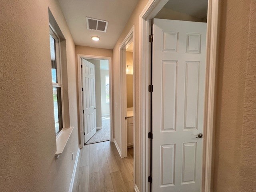
[[[84,143],[96,134],[95,70],[94,64],[82,59],[82,94]]]

